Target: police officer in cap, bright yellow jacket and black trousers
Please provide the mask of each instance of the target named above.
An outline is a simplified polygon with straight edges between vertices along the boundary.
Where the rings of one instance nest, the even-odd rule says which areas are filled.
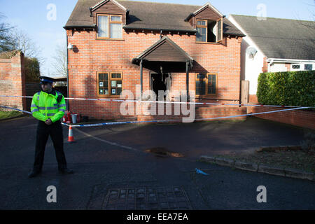
[[[36,132],[35,162],[33,170],[29,173],[29,178],[41,174],[45,145],[49,136],[55,148],[59,173],[73,174],[73,171],[66,167],[62,125],[60,122],[60,118],[64,116],[64,112],[66,111],[64,96],[52,88],[52,78],[46,76],[39,78],[41,79],[41,88],[43,91],[34,94],[31,101],[31,113],[38,120],[38,126]]]

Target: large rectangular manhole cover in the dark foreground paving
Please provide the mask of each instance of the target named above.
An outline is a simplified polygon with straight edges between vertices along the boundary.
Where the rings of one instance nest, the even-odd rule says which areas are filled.
[[[102,209],[106,210],[175,210],[192,209],[185,190],[169,188],[109,189]]]

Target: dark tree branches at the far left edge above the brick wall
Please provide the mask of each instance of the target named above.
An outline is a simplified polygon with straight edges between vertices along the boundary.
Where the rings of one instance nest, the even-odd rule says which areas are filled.
[[[14,49],[13,40],[10,38],[10,31],[12,31],[13,27],[6,22],[2,22],[3,18],[4,15],[0,13],[0,52]]]

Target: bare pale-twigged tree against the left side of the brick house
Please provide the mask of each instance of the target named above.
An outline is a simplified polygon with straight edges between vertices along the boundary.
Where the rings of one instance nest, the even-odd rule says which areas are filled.
[[[67,75],[66,69],[66,45],[57,45],[55,49],[55,55],[52,57],[52,66],[55,68],[55,73],[61,76]]]

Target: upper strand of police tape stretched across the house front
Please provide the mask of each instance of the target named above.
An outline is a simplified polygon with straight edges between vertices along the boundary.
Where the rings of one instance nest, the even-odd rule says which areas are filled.
[[[0,97],[22,97],[22,98],[33,98],[25,96],[7,96],[0,95]],[[223,104],[223,103],[202,103],[202,102],[162,102],[162,101],[148,101],[148,100],[136,100],[136,99],[89,99],[89,98],[69,98],[69,100],[88,100],[88,101],[103,101],[103,102],[137,102],[144,104],[195,104],[195,105],[219,105],[219,106],[265,106],[265,107],[281,107],[281,108],[299,108],[300,106],[284,106],[284,105],[262,105],[262,104]],[[310,106],[314,108],[314,106]]]

